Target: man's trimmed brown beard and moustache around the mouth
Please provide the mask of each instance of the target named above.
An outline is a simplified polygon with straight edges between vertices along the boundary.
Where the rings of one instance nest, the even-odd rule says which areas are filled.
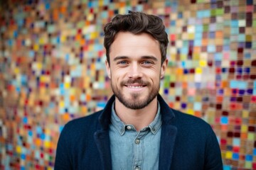
[[[159,80],[160,82],[160,80]],[[146,86],[149,88],[150,84],[148,82],[142,81],[142,79],[129,79],[128,81],[122,81],[121,86],[124,86],[124,84],[146,84]],[[142,109],[151,103],[151,101],[156,98],[156,96],[159,94],[160,89],[160,83],[157,86],[153,86],[152,89],[149,89],[149,94],[144,96],[144,98],[140,99],[140,97],[143,97],[142,94],[139,93],[133,93],[133,94],[124,94],[124,91],[122,89],[119,89],[117,86],[114,86],[111,81],[111,87],[114,95],[118,98],[118,100],[127,108],[138,110]],[[128,97],[128,95],[131,96],[131,98]]]

